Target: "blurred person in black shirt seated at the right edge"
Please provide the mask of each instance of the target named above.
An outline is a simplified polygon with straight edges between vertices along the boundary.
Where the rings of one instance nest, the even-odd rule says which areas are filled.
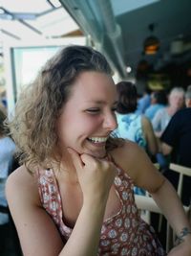
[[[170,161],[191,168],[191,90],[185,93],[186,108],[180,109],[165,128],[161,140],[161,150],[164,155],[170,155]],[[165,172],[171,182],[176,186],[178,176],[170,170]],[[182,202],[189,205],[191,202],[191,178],[184,177]]]

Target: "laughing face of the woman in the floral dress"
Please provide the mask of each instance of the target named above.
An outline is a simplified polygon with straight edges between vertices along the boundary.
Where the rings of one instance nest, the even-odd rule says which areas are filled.
[[[112,78],[95,71],[82,72],[57,120],[59,150],[65,152],[69,147],[104,157],[106,141],[117,128],[116,106],[117,91]]]

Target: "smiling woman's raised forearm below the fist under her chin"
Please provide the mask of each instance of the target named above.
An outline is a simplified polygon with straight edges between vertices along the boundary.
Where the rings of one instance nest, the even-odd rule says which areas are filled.
[[[105,202],[88,202],[82,206],[70,239],[59,256],[96,256],[105,212]]]

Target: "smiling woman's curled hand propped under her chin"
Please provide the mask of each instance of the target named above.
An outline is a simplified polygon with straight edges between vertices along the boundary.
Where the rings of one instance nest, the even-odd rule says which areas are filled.
[[[105,159],[97,159],[87,153],[79,155],[69,149],[84,200],[90,198],[107,199],[117,175],[115,165]]]

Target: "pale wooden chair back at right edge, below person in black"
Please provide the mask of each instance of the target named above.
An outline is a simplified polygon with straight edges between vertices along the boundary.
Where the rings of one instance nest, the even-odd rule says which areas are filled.
[[[178,164],[174,164],[174,163],[170,163],[170,170],[174,171],[174,172],[176,172],[180,175],[179,176],[177,193],[181,198],[182,186],[183,186],[183,175],[191,176],[191,168],[181,166],[181,165],[178,165]]]

